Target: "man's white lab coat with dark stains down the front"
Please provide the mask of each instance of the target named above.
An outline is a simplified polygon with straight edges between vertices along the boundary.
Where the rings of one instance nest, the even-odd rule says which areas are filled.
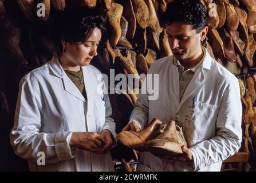
[[[149,94],[140,94],[130,121],[139,122],[142,129],[153,118],[164,124],[179,121],[194,162],[165,160],[145,152],[141,154],[138,169],[219,171],[222,161],[241,146],[242,104],[238,79],[214,61],[206,50],[203,64],[179,100],[179,73],[173,59],[176,58],[165,57],[151,65],[148,74],[159,74],[159,97],[148,100]]]

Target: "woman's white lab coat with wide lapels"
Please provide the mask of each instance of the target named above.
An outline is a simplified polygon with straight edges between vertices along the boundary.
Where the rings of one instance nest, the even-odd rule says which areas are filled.
[[[62,69],[52,61],[22,78],[10,141],[14,152],[28,159],[32,171],[113,171],[111,154],[70,148],[72,132],[115,133],[107,94],[103,94],[92,65],[82,67],[88,101]],[[99,92],[97,92],[99,91]],[[105,96],[105,100],[104,100]],[[116,142],[113,142],[114,144]],[[44,160],[45,165],[39,166]],[[38,159],[39,158],[39,159]]]

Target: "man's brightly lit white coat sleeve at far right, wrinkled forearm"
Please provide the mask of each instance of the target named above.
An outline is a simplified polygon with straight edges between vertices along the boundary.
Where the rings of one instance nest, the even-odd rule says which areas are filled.
[[[237,80],[223,93],[216,119],[215,137],[190,148],[195,170],[221,162],[238,152],[242,141],[242,104]]]

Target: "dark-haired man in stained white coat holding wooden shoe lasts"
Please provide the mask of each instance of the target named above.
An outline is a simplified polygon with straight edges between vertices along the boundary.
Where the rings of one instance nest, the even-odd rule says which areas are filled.
[[[182,146],[183,154],[172,156],[143,152],[138,170],[219,171],[222,161],[241,146],[238,79],[201,45],[208,27],[199,0],[171,2],[163,19],[174,55],[155,61],[148,71],[159,74],[159,98],[140,94],[124,130],[144,129],[153,118],[163,124],[175,120],[183,127],[187,146]]]

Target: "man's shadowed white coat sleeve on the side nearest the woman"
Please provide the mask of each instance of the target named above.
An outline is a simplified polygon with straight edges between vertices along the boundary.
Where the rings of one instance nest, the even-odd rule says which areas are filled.
[[[141,89],[147,88],[147,81],[144,79]],[[142,93],[140,91],[135,107],[132,110],[129,122],[136,121],[140,129],[144,129],[148,121],[148,92]]]

